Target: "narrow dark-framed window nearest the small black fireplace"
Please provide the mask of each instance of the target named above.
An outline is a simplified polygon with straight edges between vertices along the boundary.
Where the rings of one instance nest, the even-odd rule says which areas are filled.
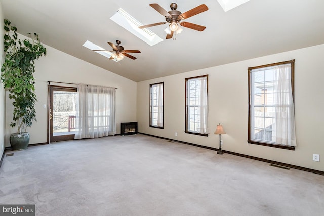
[[[150,127],[163,129],[163,82],[150,84]]]

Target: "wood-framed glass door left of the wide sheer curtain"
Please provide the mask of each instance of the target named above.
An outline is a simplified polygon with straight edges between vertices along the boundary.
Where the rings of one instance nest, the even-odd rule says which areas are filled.
[[[49,85],[49,142],[73,140],[76,88]]]

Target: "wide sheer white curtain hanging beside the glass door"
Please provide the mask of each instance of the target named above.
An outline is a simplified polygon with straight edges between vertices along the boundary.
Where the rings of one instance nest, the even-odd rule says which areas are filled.
[[[75,139],[116,133],[115,88],[77,85]]]

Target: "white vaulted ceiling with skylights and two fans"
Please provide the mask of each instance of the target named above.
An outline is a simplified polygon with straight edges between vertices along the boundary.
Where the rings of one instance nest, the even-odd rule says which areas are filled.
[[[208,11],[186,19],[206,26],[202,32],[183,27],[176,40],[166,40],[165,25],[150,27],[164,41],[149,46],[113,22],[119,8],[143,24],[164,22],[149,6],[170,10],[172,1],[133,0],[0,0],[4,17],[18,32],[38,33],[53,48],[134,81],[207,68],[279,52],[324,44],[324,1],[250,0],[224,12],[217,0],[178,0],[186,12],[200,4]],[[82,45],[87,41],[111,50],[107,41],[121,41],[127,50],[140,50],[136,60],[108,60]]]

